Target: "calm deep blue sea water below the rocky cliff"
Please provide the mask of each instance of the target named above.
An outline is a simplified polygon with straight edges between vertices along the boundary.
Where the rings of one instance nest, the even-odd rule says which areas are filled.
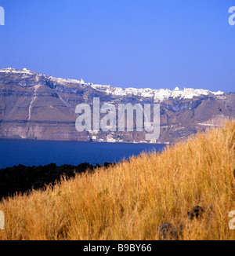
[[[92,143],[74,141],[0,140],[0,169],[18,164],[25,166],[56,163],[118,163],[141,152],[161,151],[164,144]]]

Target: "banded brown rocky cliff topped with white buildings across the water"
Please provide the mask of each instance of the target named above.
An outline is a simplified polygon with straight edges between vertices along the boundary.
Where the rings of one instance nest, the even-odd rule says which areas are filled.
[[[55,141],[144,142],[144,132],[78,133],[78,104],[160,103],[161,136],[157,143],[173,143],[197,130],[234,118],[235,93],[208,90],[121,89],[56,79],[27,69],[0,70],[0,137]]]

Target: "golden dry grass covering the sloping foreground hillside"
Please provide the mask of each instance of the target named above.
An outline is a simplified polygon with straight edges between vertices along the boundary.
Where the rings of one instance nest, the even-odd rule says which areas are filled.
[[[235,121],[198,133],[161,154],[133,157],[53,189],[4,199],[0,240],[159,240],[165,221],[181,240],[234,240]],[[200,205],[203,217],[187,211]]]

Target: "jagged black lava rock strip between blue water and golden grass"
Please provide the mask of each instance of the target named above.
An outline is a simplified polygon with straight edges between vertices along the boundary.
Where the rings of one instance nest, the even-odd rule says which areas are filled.
[[[114,163],[104,163],[104,167]],[[0,199],[14,196],[16,193],[31,192],[33,189],[45,188],[45,185],[55,185],[62,176],[75,177],[86,171],[92,172],[100,166],[92,166],[89,163],[81,163],[78,166],[56,166],[51,163],[47,166],[13,166],[0,170]]]

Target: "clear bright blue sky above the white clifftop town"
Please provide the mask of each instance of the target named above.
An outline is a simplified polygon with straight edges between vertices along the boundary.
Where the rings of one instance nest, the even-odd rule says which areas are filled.
[[[0,0],[0,68],[121,87],[235,90],[235,0]]]

